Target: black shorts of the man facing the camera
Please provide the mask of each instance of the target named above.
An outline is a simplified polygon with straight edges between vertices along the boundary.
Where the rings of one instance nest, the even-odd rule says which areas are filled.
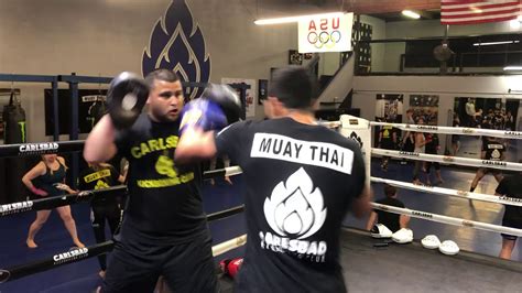
[[[173,292],[218,292],[211,238],[207,232],[188,242],[134,251],[116,242],[101,292],[153,292],[160,275]]]

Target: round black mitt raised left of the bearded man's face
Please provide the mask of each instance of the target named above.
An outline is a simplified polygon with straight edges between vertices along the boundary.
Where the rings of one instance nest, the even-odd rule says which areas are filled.
[[[107,93],[107,110],[117,129],[132,127],[149,98],[145,82],[133,73],[119,74]]]

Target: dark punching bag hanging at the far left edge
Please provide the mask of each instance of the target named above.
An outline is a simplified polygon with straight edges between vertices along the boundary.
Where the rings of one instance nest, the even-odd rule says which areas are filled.
[[[9,105],[3,106],[3,142],[6,144],[28,142],[25,128],[25,111],[20,101],[14,99],[14,91],[11,93]],[[25,200],[28,191],[22,183],[22,176],[26,170],[26,158],[7,158],[6,165],[6,193],[9,203]]]

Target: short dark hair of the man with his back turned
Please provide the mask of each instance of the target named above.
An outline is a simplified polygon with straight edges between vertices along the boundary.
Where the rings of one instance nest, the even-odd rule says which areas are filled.
[[[317,78],[303,66],[276,69],[272,75],[269,96],[276,97],[290,109],[309,108],[317,98]]]

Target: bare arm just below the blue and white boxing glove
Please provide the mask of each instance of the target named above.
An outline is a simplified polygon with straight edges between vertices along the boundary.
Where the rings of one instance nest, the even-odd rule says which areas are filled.
[[[177,142],[174,160],[180,163],[207,160],[216,155],[214,131],[204,131],[197,127],[187,128]]]

